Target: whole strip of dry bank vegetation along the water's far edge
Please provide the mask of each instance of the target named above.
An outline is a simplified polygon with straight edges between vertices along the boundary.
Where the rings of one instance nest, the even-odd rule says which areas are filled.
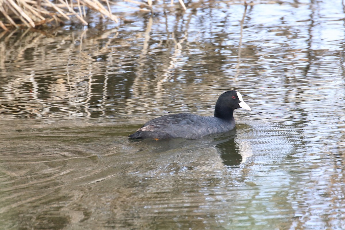
[[[217,0],[0,0],[0,30],[55,27],[65,24],[66,21],[88,25],[88,15],[91,12],[118,23],[126,20],[118,9],[155,12],[155,6],[170,5],[185,11],[188,7],[195,9],[214,2]],[[246,3],[245,0],[221,2],[254,4],[253,1]],[[114,11],[117,13],[113,13]]]

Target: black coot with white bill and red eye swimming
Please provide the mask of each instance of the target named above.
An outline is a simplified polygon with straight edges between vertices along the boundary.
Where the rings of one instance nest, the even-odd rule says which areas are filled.
[[[235,128],[234,109],[251,111],[241,94],[230,90],[221,94],[216,102],[214,117],[190,113],[170,114],[155,118],[144,124],[138,131],[129,135],[137,138],[186,138],[198,139],[212,133],[227,132]]]

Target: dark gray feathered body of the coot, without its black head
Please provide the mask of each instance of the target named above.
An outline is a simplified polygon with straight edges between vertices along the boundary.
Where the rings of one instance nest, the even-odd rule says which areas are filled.
[[[129,137],[198,139],[212,133],[227,132],[235,128],[234,117],[225,120],[189,113],[178,113],[155,118],[144,124]]]

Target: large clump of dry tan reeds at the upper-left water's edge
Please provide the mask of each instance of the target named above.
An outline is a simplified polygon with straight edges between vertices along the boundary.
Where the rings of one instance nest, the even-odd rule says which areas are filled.
[[[77,17],[83,24],[86,10],[98,11],[102,16],[118,21],[111,13],[110,3],[103,0],[107,8],[99,0],[0,0],[0,27],[8,30],[11,27],[37,27],[42,24],[62,23],[62,18],[70,20]]]

